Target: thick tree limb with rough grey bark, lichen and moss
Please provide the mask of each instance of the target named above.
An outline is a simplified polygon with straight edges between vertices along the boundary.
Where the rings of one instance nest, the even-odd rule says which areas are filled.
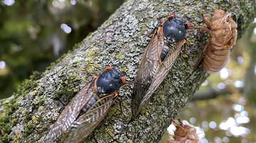
[[[68,101],[94,74],[107,65],[126,73],[134,81],[137,67],[149,38],[146,34],[169,13],[186,19],[191,25],[203,25],[201,14],[210,16],[216,8],[233,11],[238,16],[238,34],[252,23],[253,1],[134,1],[125,2],[100,28],[75,46],[43,74],[35,73],[24,81],[18,92],[1,101],[2,142],[41,142]],[[123,113],[116,103],[85,142],[159,142],[171,117],[177,115],[209,74],[200,66],[193,70],[207,33],[189,30],[186,53],[176,60],[164,82],[154,93],[141,115],[131,121],[132,84],[121,88]],[[0,141],[0,142],[1,142]]]

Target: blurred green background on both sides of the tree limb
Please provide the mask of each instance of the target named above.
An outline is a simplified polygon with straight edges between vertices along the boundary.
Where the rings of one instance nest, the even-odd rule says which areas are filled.
[[[33,71],[45,71],[72,50],[123,2],[0,1],[0,99],[11,96]],[[197,126],[200,142],[256,142],[255,55],[253,23],[233,47],[226,68],[210,75],[179,113]]]

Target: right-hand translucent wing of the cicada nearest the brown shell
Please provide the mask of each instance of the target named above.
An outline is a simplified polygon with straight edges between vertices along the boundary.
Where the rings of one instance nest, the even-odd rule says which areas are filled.
[[[136,115],[139,114],[139,111],[142,109],[144,104],[146,104],[146,101],[149,100],[150,96],[154,93],[154,91],[156,91],[156,88],[161,84],[162,81],[164,81],[165,76],[169,73],[178,55],[181,53],[181,49],[185,42],[186,40],[182,40],[181,42],[176,43],[174,47],[171,47],[167,58],[164,59],[164,61],[161,63],[159,71],[157,72],[156,76],[154,76],[154,79],[152,80],[151,85],[146,92],[146,95],[142,99],[142,103],[139,105],[139,109],[137,110]]]

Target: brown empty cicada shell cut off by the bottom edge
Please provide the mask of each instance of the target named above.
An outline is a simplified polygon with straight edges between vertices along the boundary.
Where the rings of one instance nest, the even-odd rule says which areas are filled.
[[[174,131],[174,139],[169,139],[166,143],[197,143],[199,142],[198,135],[196,134],[196,128],[191,125],[186,125],[182,120],[178,119],[178,124],[172,119],[176,130]]]

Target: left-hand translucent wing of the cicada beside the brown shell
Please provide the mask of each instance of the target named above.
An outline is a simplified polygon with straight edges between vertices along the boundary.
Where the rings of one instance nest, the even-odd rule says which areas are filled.
[[[146,94],[151,81],[154,78],[156,72],[160,66],[160,55],[164,46],[164,35],[162,33],[162,27],[159,27],[156,33],[149,41],[149,45],[146,47],[142,61],[139,64],[137,71],[137,77],[135,79],[134,89],[132,93],[132,115],[137,113],[139,105]]]

